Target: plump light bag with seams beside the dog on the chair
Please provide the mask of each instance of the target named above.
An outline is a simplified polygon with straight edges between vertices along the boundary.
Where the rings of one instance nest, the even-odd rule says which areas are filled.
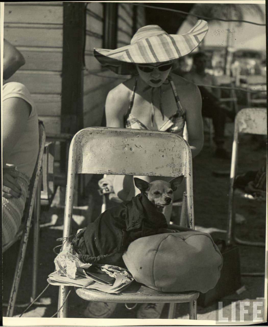
[[[207,292],[219,278],[221,252],[207,233],[164,233],[141,237],[123,255],[134,279],[162,292]]]

